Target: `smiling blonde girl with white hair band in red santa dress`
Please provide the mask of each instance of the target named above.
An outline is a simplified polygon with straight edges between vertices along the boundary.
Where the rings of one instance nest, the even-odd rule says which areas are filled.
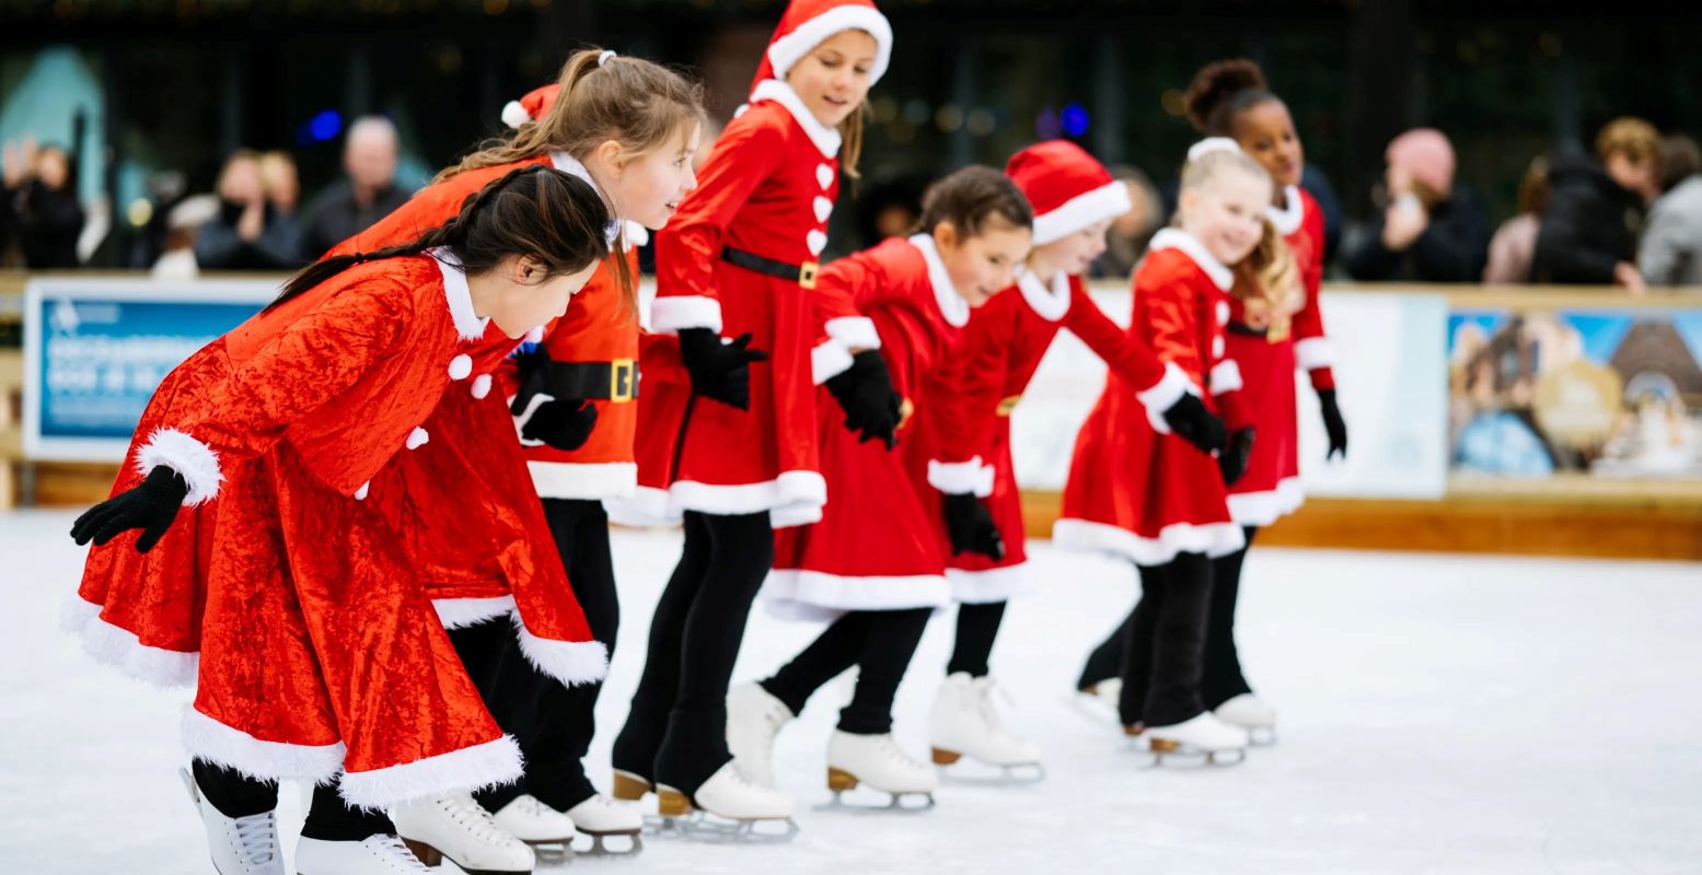
[[[1174,228],[1152,238],[1134,279],[1130,332],[1176,364],[1231,429],[1217,461],[1176,434],[1151,427],[1118,376],[1106,381],[1076,439],[1054,540],[1140,569],[1137,611],[1122,667],[1120,717],[1156,752],[1239,754],[1248,734],[1202,703],[1212,560],[1242,546],[1225,483],[1246,468],[1253,427],[1241,375],[1225,357],[1231,289],[1292,281],[1288,249],[1265,218],[1271,180],[1232,140],[1190,150]]]

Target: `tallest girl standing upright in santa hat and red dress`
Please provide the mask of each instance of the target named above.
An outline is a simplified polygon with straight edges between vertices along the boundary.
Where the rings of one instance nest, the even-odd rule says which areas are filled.
[[[868,0],[788,5],[749,107],[657,233],[650,327],[679,337],[689,376],[652,381],[645,368],[640,504],[683,511],[686,543],[650,621],[613,764],[616,795],[655,788],[665,817],[693,807],[745,824],[791,815],[791,800],[744,776],[727,751],[727,683],[773,565],[774,528],[819,519],[827,500],[815,385],[851,357],[820,342],[817,259],[839,153],[854,172],[860,109],[890,53],[892,29]],[[849,388],[875,390],[844,393],[853,426],[878,436],[897,424],[885,378],[865,366]]]

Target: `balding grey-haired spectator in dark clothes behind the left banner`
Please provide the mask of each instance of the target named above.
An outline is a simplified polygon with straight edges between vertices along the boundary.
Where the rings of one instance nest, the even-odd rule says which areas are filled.
[[[408,199],[410,192],[397,187],[397,126],[390,119],[354,119],[342,146],[347,179],[322,191],[301,211],[303,259],[317,260]]]

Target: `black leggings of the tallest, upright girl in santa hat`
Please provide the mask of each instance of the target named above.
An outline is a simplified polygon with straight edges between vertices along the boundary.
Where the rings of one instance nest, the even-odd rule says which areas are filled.
[[[650,618],[638,691],[613,766],[696,793],[727,752],[727,683],[751,603],[774,565],[768,512],[686,511],[686,546]]]

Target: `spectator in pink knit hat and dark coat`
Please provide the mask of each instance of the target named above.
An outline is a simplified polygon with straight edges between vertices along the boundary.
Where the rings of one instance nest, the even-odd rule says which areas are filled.
[[[1476,283],[1489,240],[1482,206],[1454,184],[1454,145],[1433,128],[1411,129],[1384,155],[1387,204],[1348,247],[1353,279]]]

